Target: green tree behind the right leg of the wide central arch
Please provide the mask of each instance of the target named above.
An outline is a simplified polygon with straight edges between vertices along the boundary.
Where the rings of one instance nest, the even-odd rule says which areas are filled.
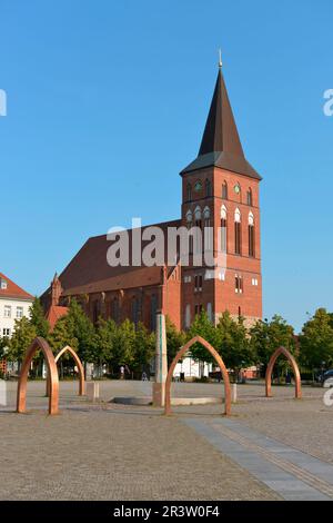
[[[226,310],[220,317],[215,330],[216,349],[228,368],[234,371],[235,376],[242,368],[254,362],[254,352],[250,344],[249,333],[244,318],[233,319]]]

